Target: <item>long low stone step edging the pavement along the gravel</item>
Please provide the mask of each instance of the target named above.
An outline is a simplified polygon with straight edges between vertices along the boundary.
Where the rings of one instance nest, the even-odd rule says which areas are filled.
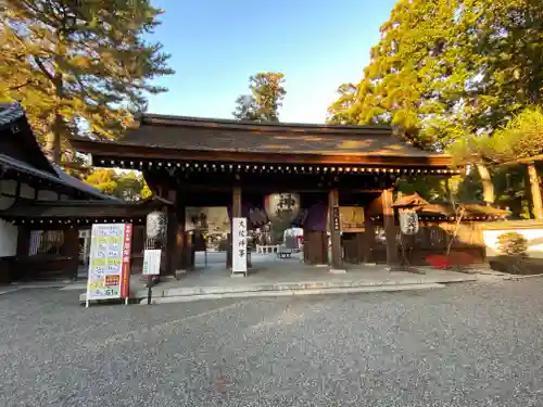
[[[220,300],[220,298],[250,298],[265,296],[292,296],[292,295],[327,295],[327,294],[357,294],[357,293],[375,293],[375,292],[397,292],[397,291],[418,291],[418,290],[435,290],[443,289],[444,284],[425,283],[425,284],[388,284],[388,285],[367,285],[367,287],[350,287],[334,289],[303,289],[303,290],[280,290],[280,291],[245,291],[245,292],[222,292],[210,294],[192,294],[192,295],[173,295],[159,296],[151,298],[151,304],[171,304],[185,303],[190,301],[201,300]],[[147,305],[147,298],[141,300],[140,305]]]

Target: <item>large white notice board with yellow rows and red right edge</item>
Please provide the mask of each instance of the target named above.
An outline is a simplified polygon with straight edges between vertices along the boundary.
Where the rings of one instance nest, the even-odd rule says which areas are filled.
[[[87,300],[127,298],[131,224],[92,225]]]

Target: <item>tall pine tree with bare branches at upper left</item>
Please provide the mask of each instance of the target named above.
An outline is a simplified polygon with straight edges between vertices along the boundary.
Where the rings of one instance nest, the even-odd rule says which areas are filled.
[[[150,0],[5,0],[0,24],[0,100],[27,110],[55,163],[71,133],[118,136],[150,82],[172,74],[162,46],[143,39],[160,24]]]

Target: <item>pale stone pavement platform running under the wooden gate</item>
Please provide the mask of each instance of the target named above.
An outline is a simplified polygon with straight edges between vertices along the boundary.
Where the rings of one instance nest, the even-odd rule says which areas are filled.
[[[307,266],[296,258],[278,259],[275,255],[253,256],[253,266],[247,278],[231,277],[224,263],[197,267],[180,280],[155,285],[153,302],[438,289],[443,283],[477,280],[473,275],[431,268],[425,268],[425,275],[389,271],[382,265],[351,265],[345,274],[330,274],[328,267]],[[132,298],[147,298],[140,276],[132,276],[130,283]],[[85,293],[79,301],[85,302]]]

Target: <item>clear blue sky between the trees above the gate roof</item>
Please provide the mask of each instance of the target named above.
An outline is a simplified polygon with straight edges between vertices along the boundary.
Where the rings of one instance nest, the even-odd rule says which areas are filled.
[[[281,72],[281,122],[324,123],[345,81],[357,82],[395,0],[154,0],[165,10],[152,39],[176,74],[149,112],[231,118],[250,75]]]

